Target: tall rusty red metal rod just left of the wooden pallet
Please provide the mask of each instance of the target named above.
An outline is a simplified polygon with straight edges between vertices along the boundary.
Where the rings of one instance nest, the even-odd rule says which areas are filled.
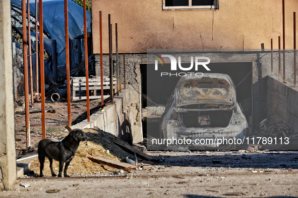
[[[64,15],[65,15],[65,52],[66,52],[66,81],[67,81],[67,110],[68,110],[68,125],[72,126],[71,112],[71,85],[70,85],[70,65],[69,65],[69,37],[68,37],[68,0],[64,0]]]

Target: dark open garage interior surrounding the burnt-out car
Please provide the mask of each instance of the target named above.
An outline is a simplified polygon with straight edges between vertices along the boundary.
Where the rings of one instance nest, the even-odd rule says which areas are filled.
[[[189,67],[190,63],[182,63],[183,67]],[[253,95],[253,86],[252,86],[252,62],[218,62],[218,63],[209,63],[208,67],[211,71],[202,70],[199,72],[202,73],[222,73],[227,74],[231,77],[235,88],[236,88],[236,101],[240,104],[242,111],[249,122],[252,120],[252,95]],[[158,73],[154,70],[154,64],[141,64],[141,88],[142,88],[142,113],[148,113],[146,111],[149,107],[164,107],[173,93],[177,81],[181,78],[180,76],[175,75],[165,75],[161,76],[161,72],[168,72],[165,67],[159,66]],[[188,72],[198,72],[190,70]],[[149,113],[150,114],[150,113]],[[143,137],[154,136],[153,138],[160,138],[159,133],[159,121],[161,116],[152,116],[151,115],[142,115],[143,122]],[[211,115],[212,114],[212,115]],[[205,113],[200,116],[209,116],[212,126],[225,126],[229,122],[229,119],[221,119],[220,114]],[[230,112],[224,112],[222,114],[231,114]],[[196,121],[193,122],[193,118],[196,118]],[[224,116],[224,118],[231,118],[230,115]],[[188,125],[186,127],[199,127],[200,123],[197,121],[197,116],[192,115],[183,115],[184,124]],[[216,121],[217,120],[217,121]],[[250,123],[250,122],[249,122]],[[149,131],[150,130],[150,133]]]

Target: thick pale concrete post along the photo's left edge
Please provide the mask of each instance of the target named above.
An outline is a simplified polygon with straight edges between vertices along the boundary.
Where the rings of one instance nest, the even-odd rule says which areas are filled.
[[[0,0],[0,188],[17,179],[10,1]]]

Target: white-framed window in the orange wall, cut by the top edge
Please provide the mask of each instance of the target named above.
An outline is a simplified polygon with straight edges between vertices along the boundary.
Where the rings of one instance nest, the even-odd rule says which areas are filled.
[[[218,0],[162,0],[163,10],[218,9]]]

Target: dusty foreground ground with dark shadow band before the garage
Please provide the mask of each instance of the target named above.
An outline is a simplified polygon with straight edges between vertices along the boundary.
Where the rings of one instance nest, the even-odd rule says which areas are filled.
[[[104,178],[18,179],[1,197],[297,197],[297,151],[149,152],[160,159]],[[141,166],[142,167],[142,166]],[[119,177],[122,176],[122,177]],[[57,177],[55,177],[57,178]],[[25,188],[20,184],[30,184]],[[55,194],[47,190],[58,189]]]

